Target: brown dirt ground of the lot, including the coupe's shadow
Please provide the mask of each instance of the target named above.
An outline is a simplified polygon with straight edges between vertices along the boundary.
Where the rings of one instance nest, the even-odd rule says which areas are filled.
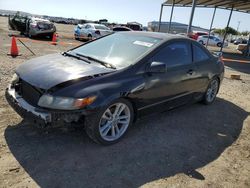
[[[81,44],[57,25],[61,44],[22,39],[36,56]],[[250,64],[228,62],[213,105],[194,104],[139,120],[118,144],[93,143],[83,130],[44,131],[23,121],[4,91],[32,54],[9,52],[0,17],[0,187],[250,187]],[[242,80],[231,80],[233,73]]]

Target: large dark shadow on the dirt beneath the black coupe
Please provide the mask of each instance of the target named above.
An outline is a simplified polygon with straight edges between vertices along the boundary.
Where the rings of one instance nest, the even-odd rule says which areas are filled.
[[[20,165],[40,187],[138,187],[185,173],[217,159],[239,137],[248,112],[217,98],[145,117],[119,143],[100,146],[83,130],[50,132],[25,122],[5,138]]]

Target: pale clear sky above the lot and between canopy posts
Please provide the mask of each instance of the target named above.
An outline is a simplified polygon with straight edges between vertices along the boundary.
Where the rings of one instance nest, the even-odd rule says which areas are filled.
[[[127,23],[137,21],[144,26],[158,21],[164,0],[0,0],[0,9],[18,10],[33,14],[78,19]],[[169,21],[170,7],[164,7],[162,21]],[[191,8],[176,7],[173,21],[188,24]],[[229,10],[217,10],[214,28],[227,25]],[[213,9],[196,8],[193,25],[209,28]],[[250,14],[233,12],[230,26],[239,31],[250,31]]]

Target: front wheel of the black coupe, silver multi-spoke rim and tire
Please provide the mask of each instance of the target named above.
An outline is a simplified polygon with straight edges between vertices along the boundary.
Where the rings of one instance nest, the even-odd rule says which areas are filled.
[[[110,145],[125,135],[133,119],[131,103],[126,99],[117,99],[94,115],[86,117],[85,130],[96,143]]]

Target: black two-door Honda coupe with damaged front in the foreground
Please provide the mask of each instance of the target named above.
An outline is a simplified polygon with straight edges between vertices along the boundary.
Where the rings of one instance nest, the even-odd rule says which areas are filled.
[[[223,75],[221,58],[194,40],[119,32],[23,63],[5,96],[34,124],[78,123],[95,142],[113,144],[142,115],[213,103]]]

